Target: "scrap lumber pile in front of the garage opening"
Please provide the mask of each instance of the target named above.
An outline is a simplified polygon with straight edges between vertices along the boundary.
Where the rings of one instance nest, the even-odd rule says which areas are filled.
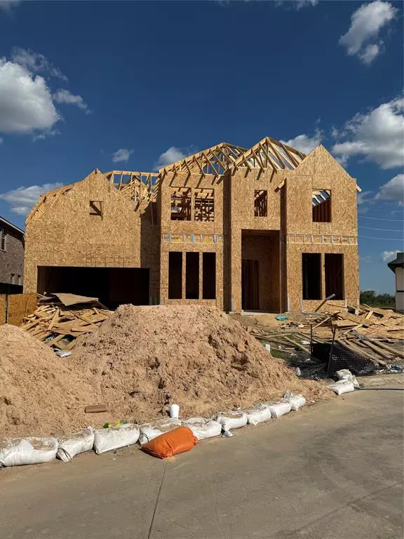
[[[114,311],[108,310],[96,298],[86,298],[88,302],[73,303],[59,298],[45,298],[39,301],[36,310],[25,317],[22,328],[30,335],[58,350],[72,350],[84,336],[98,328]],[[72,295],[71,295],[72,296]]]

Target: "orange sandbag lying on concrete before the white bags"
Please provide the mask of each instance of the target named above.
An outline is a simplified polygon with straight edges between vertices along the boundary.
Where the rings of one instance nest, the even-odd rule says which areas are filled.
[[[185,453],[198,443],[194,433],[188,427],[177,427],[149,441],[142,450],[157,458],[167,458],[178,453]]]

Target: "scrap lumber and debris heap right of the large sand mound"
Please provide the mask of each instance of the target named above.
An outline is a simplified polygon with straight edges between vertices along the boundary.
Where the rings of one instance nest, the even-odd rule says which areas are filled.
[[[320,308],[323,312],[317,312]],[[391,309],[332,307],[322,302],[316,312],[287,315],[288,322],[276,326],[264,323],[268,315],[255,315],[257,326],[248,326],[248,332],[263,345],[271,343],[274,353],[289,357],[303,376],[326,378],[339,368],[367,374],[404,359],[404,317]],[[330,357],[328,367],[319,370],[318,363],[327,363]]]

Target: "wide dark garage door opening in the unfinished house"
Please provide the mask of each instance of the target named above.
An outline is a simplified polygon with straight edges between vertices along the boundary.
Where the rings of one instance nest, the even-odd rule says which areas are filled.
[[[66,292],[98,298],[109,309],[149,305],[149,269],[140,267],[39,266],[40,294]]]

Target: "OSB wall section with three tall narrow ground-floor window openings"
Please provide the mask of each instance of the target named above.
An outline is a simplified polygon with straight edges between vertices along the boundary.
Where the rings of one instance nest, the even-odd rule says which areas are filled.
[[[170,241],[161,241],[161,274],[160,294],[161,302],[166,304],[180,303],[193,304],[201,302],[206,305],[216,305],[223,308],[223,178],[212,174],[166,173],[160,184],[159,208],[161,212],[161,235],[170,234]],[[214,189],[215,220],[213,221],[180,221],[171,220],[171,194],[175,188],[191,188],[191,208],[194,215],[194,189]],[[194,241],[191,241],[191,234]],[[213,237],[217,236],[217,242]],[[202,239],[202,241],[201,241]],[[168,253],[170,251],[182,252],[182,299],[168,298]],[[216,299],[202,300],[203,266],[202,253],[216,253]],[[199,255],[199,300],[185,299],[185,253],[200,253]]]

